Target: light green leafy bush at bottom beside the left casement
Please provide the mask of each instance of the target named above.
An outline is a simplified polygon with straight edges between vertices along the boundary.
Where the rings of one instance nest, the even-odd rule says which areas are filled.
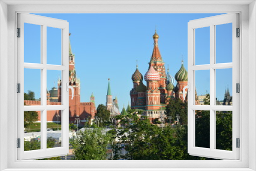
[[[103,132],[103,129],[86,129],[77,132],[77,136],[71,140],[75,160],[105,160],[107,145],[112,141],[112,134]]]

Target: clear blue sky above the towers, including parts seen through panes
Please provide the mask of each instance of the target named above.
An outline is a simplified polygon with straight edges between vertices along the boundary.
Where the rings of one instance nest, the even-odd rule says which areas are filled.
[[[113,98],[117,95],[119,106],[130,102],[133,87],[131,76],[138,69],[144,76],[153,51],[153,34],[159,35],[159,49],[170,74],[181,67],[183,54],[187,69],[187,23],[219,14],[37,14],[67,20],[70,26],[72,52],[75,54],[76,72],[81,81],[81,102],[90,101],[92,92],[96,106],[105,104],[108,78],[111,78]],[[27,24],[28,25],[28,24]],[[231,24],[217,26],[217,62],[231,62],[231,34],[226,30]],[[33,29],[32,29],[33,28]],[[25,26],[25,62],[40,62],[40,28]],[[31,37],[29,37],[31,36]],[[56,41],[57,39],[57,41]],[[26,48],[27,45],[27,48]],[[60,63],[60,30],[48,28],[47,63]],[[209,29],[196,30],[196,64],[209,63]],[[28,70],[28,69],[27,69]],[[223,99],[227,85],[231,91],[232,69],[217,71],[217,98]],[[167,72],[167,71],[166,71]],[[37,73],[37,74],[36,74]],[[25,71],[25,92],[32,90],[39,98],[39,72]],[[218,76],[219,75],[219,76]],[[57,86],[61,76],[49,71],[47,88]],[[207,71],[196,76],[198,95],[209,92]],[[27,82],[27,83],[26,83]],[[55,83],[54,83],[55,82]],[[144,84],[145,81],[144,81]]]

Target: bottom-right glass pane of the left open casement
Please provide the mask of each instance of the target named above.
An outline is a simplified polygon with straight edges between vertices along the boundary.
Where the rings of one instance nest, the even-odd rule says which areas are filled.
[[[62,111],[47,111],[47,148],[61,146],[61,113]]]

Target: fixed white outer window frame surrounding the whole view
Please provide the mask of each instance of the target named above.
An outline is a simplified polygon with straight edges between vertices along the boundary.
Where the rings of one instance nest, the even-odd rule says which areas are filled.
[[[7,5],[7,4],[14,5]],[[40,5],[38,5],[38,4]],[[50,4],[51,3],[51,4]],[[61,5],[61,3],[73,4]],[[75,5],[79,3],[79,5]],[[202,3],[202,4],[201,4]],[[15,5],[16,4],[16,5]],[[22,5],[23,4],[23,5]],[[24,5],[25,4],[25,5]],[[44,5],[41,5],[44,4]],[[58,4],[58,5],[53,5]],[[93,4],[93,5],[92,5]],[[105,4],[105,5],[104,5]],[[223,5],[224,4],[224,5]],[[256,170],[256,6],[254,1],[2,1],[0,2],[0,169],[83,168],[81,170]],[[240,13],[240,160],[223,161],[17,161],[16,160],[16,13]],[[7,36],[8,35],[8,36]],[[8,46],[6,45],[8,42]],[[8,50],[7,50],[8,48]],[[8,65],[6,60],[8,56]],[[249,69],[248,69],[249,68]],[[6,74],[6,70],[8,71]],[[249,72],[250,71],[250,72]],[[248,79],[250,78],[250,79]],[[8,86],[6,85],[8,82]],[[7,90],[7,91],[6,91]],[[250,90],[250,91],[249,91]],[[6,101],[8,97],[8,101]],[[7,114],[7,115],[6,115]],[[8,121],[8,122],[7,122]],[[6,129],[8,127],[8,129]],[[7,131],[6,131],[7,130]],[[8,137],[6,139],[6,137]],[[250,149],[250,150],[249,150]],[[7,157],[6,157],[7,156]],[[51,169],[50,169],[51,168]],[[113,169],[111,169],[113,168]],[[118,169],[119,168],[119,169]],[[182,169],[183,168],[183,169]],[[176,169],[176,170],[177,170]],[[24,169],[23,169],[24,170]],[[39,169],[38,169],[39,170]],[[94,169],[95,170],[95,169]],[[127,169],[126,169],[127,170]]]

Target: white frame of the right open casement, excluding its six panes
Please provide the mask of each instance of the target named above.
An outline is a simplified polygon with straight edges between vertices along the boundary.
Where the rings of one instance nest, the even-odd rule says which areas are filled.
[[[232,24],[232,62],[216,63],[216,26]],[[209,64],[196,65],[196,29],[209,27]],[[239,28],[239,14],[230,13],[212,17],[190,20],[188,23],[188,153],[193,156],[211,157],[215,159],[239,159],[239,148],[236,147],[236,138],[239,138],[239,94],[236,93],[236,83],[239,83],[239,38],[236,29]],[[216,104],[216,70],[232,69],[232,105]],[[196,105],[195,90],[196,71],[209,71],[210,105]],[[197,147],[195,111],[209,111],[209,148]],[[216,111],[232,111],[232,151],[216,149]]]

